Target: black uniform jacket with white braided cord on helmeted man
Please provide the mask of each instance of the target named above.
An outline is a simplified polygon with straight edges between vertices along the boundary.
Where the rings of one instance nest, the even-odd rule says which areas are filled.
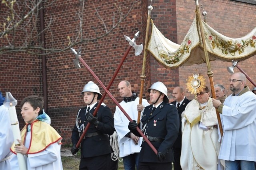
[[[94,110],[96,109],[98,103],[94,105],[94,107],[90,110],[90,113],[93,114]],[[80,110],[80,113],[78,115],[78,125],[81,127],[81,125],[84,123],[84,129],[86,125],[88,124],[88,121],[85,118],[86,114],[86,107],[82,108]],[[90,124],[90,127],[86,134],[88,133],[94,133],[99,132],[102,133],[102,135],[92,136],[92,137],[86,137],[81,142],[81,158],[88,158],[92,156],[99,156],[104,154],[110,154],[112,152],[110,147],[110,141],[108,135],[112,135],[114,133],[114,118],[112,116],[112,113],[110,109],[107,106],[100,106],[98,109],[98,113],[95,116],[98,118],[99,124],[96,128],[94,125]],[[80,132],[82,135],[83,131]],[[107,134],[107,135],[106,135]],[[80,137],[78,128],[76,125],[74,126],[74,129],[72,130],[72,143],[76,144],[78,143]]]

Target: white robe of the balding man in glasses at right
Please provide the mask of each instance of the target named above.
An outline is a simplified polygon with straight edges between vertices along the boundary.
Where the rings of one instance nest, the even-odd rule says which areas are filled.
[[[256,96],[228,96],[222,108],[224,134],[219,159],[256,161]]]

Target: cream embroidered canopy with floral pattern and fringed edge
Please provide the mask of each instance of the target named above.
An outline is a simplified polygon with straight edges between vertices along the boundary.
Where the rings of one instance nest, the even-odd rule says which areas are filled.
[[[153,21],[148,51],[167,69],[206,63],[200,28],[195,17],[187,35],[178,45],[162,35]],[[226,37],[202,21],[209,61],[243,61],[256,54],[256,28],[241,38]]]

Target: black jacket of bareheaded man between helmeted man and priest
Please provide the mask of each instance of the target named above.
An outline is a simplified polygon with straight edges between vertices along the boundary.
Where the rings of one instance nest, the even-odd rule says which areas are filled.
[[[188,103],[191,100],[185,98],[182,102],[182,104],[180,105],[180,107],[178,108],[178,113],[179,113],[179,118],[180,118],[180,129],[179,129],[179,135],[173,145],[174,148],[181,148],[181,139],[182,139],[182,134],[181,134],[181,113],[185,110],[185,107],[188,105]],[[176,106],[176,101],[172,102],[171,104],[173,104],[174,106]]]

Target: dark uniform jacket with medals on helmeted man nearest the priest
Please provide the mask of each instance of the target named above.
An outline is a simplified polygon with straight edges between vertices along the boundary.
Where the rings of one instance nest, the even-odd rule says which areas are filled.
[[[166,154],[166,159],[163,162],[173,162],[172,145],[179,131],[178,111],[174,105],[162,102],[150,116],[152,107],[150,105],[144,108],[139,125],[142,124],[142,128],[146,125],[144,130],[146,136],[164,138],[162,142],[152,141],[151,143],[158,152]],[[146,142],[142,142],[141,147],[140,162],[161,163]]]

